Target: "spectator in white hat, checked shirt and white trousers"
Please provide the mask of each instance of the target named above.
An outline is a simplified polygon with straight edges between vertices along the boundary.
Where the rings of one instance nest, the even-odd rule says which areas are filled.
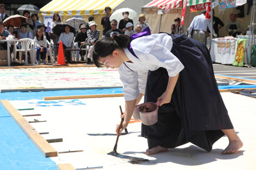
[[[87,63],[90,64],[92,62],[92,54],[93,54],[93,47],[96,43],[96,41],[100,37],[100,31],[96,29],[97,24],[94,21],[89,22],[90,29],[87,30],[87,36],[88,36],[88,43],[90,43],[90,49],[88,52],[88,61]]]

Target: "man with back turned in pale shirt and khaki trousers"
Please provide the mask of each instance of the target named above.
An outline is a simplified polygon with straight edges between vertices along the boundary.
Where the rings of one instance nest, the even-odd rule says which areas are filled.
[[[191,24],[189,25],[189,38],[197,39],[202,43],[206,43],[206,31],[207,27],[211,30],[211,22],[209,19],[205,18],[206,10],[202,11],[201,15],[197,15]],[[212,31],[214,36],[217,36],[214,31]],[[206,45],[206,44],[205,44]]]

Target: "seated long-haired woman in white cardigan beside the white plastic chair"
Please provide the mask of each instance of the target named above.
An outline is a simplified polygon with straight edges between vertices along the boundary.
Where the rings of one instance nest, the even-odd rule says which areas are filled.
[[[41,29],[36,29],[35,36],[35,45],[36,45],[36,64],[40,64],[40,53],[43,53],[42,60],[46,64],[46,53],[47,53],[47,41],[46,37],[43,35]]]

